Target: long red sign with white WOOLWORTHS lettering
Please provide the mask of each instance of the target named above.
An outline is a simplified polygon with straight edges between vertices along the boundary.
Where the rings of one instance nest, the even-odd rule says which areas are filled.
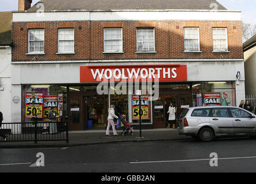
[[[186,65],[125,65],[80,67],[80,82],[187,81]]]

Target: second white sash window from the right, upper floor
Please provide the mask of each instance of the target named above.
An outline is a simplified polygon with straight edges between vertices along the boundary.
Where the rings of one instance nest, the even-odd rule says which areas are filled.
[[[184,51],[200,51],[199,28],[184,28]]]

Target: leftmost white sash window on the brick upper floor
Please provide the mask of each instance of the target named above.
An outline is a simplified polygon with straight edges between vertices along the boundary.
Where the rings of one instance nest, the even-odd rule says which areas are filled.
[[[44,53],[44,29],[28,30],[28,53]]]

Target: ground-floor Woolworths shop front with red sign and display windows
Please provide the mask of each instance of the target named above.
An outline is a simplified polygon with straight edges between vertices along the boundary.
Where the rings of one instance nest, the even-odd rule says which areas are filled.
[[[184,108],[191,106],[236,106],[240,101],[238,98],[242,96],[241,91],[244,91],[243,81],[238,85],[235,78],[228,75],[235,73],[233,68],[229,68],[233,71],[226,70],[225,78],[221,74],[211,74],[210,70],[201,74],[195,72],[192,70],[195,64],[198,64],[199,70],[200,67],[204,70],[210,67],[209,64],[202,66],[198,62],[131,63],[119,66],[97,64],[42,64],[44,70],[52,70],[57,65],[61,68],[61,72],[54,70],[55,74],[48,71],[51,76],[46,75],[45,78],[37,77],[42,70],[40,64],[34,64],[33,67],[29,64],[26,67],[20,65],[20,71],[24,71],[20,81],[21,120],[31,121],[28,117],[31,110],[26,104],[28,94],[31,93],[42,95],[42,117],[47,117],[50,106],[54,106],[60,117],[68,117],[70,131],[105,129],[108,108],[112,104],[116,107],[116,114],[125,114],[127,121],[136,128],[139,127],[139,99],[136,91],[141,90],[142,127],[166,128],[170,102],[177,109],[177,118]],[[222,70],[221,65],[216,70]],[[38,75],[34,75],[36,77],[33,79],[25,76],[25,71],[31,71],[30,76],[37,71]],[[18,86],[14,86],[16,92]]]

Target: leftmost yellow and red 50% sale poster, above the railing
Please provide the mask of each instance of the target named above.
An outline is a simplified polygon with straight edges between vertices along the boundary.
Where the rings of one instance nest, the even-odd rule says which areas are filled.
[[[25,99],[25,118],[43,117],[43,93],[27,93]]]

